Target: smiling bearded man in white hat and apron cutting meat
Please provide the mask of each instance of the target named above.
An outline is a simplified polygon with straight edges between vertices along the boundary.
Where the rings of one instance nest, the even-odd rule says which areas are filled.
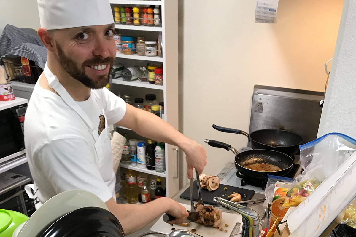
[[[188,178],[206,165],[206,151],[156,115],[126,104],[104,86],[116,45],[108,0],[38,0],[38,36],[47,63],[33,90],[25,119],[25,145],[37,198],[44,203],[72,189],[98,195],[125,233],[163,212],[182,222],[188,212],[169,198],[144,205],[116,204],[109,124],[179,146]],[[102,124],[103,126],[101,126]],[[173,223],[173,222],[172,222]]]

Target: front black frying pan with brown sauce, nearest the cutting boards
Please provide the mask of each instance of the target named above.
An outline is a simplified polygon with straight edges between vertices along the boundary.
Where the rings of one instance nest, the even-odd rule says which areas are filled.
[[[204,139],[204,142],[208,143],[209,146],[224,148],[227,151],[232,151],[235,153],[235,167],[236,169],[245,174],[257,179],[267,179],[267,174],[284,176],[289,173],[293,166],[293,160],[290,156],[272,150],[250,150],[238,152],[234,147],[226,144],[224,142]],[[252,169],[247,169],[245,166],[252,165],[255,163],[268,163],[279,167],[279,171],[255,171]]]

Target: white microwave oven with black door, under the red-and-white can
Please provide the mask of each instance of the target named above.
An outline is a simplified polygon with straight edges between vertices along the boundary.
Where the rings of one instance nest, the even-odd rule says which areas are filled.
[[[25,154],[23,123],[27,99],[0,101],[0,163]]]

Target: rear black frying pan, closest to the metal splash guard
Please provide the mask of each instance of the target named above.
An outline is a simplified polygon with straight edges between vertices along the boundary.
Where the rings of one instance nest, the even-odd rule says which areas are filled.
[[[293,156],[299,151],[302,145],[302,136],[280,129],[262,129],[253,131],[250,135],[245,131],[232,128],[224,128],[213,124],[213,128],[225,133],[236,133],[247,136],[251,142],[252,149],[266,149],[279,151],[288,156]]]

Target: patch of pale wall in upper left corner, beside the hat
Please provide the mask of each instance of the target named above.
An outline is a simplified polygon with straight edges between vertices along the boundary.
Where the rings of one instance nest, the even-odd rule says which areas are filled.
[[[36,0],[0,0],[0,34],[6,24],[19,28],[40,27]]]

